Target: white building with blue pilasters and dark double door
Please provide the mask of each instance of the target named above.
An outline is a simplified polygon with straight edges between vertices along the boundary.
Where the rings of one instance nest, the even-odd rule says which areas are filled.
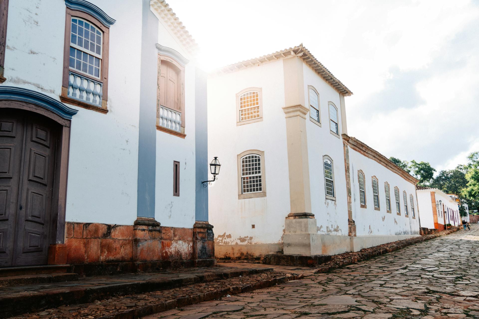
[[[212,257],[206,77],[168,4],[0,4],[0,266]]]

